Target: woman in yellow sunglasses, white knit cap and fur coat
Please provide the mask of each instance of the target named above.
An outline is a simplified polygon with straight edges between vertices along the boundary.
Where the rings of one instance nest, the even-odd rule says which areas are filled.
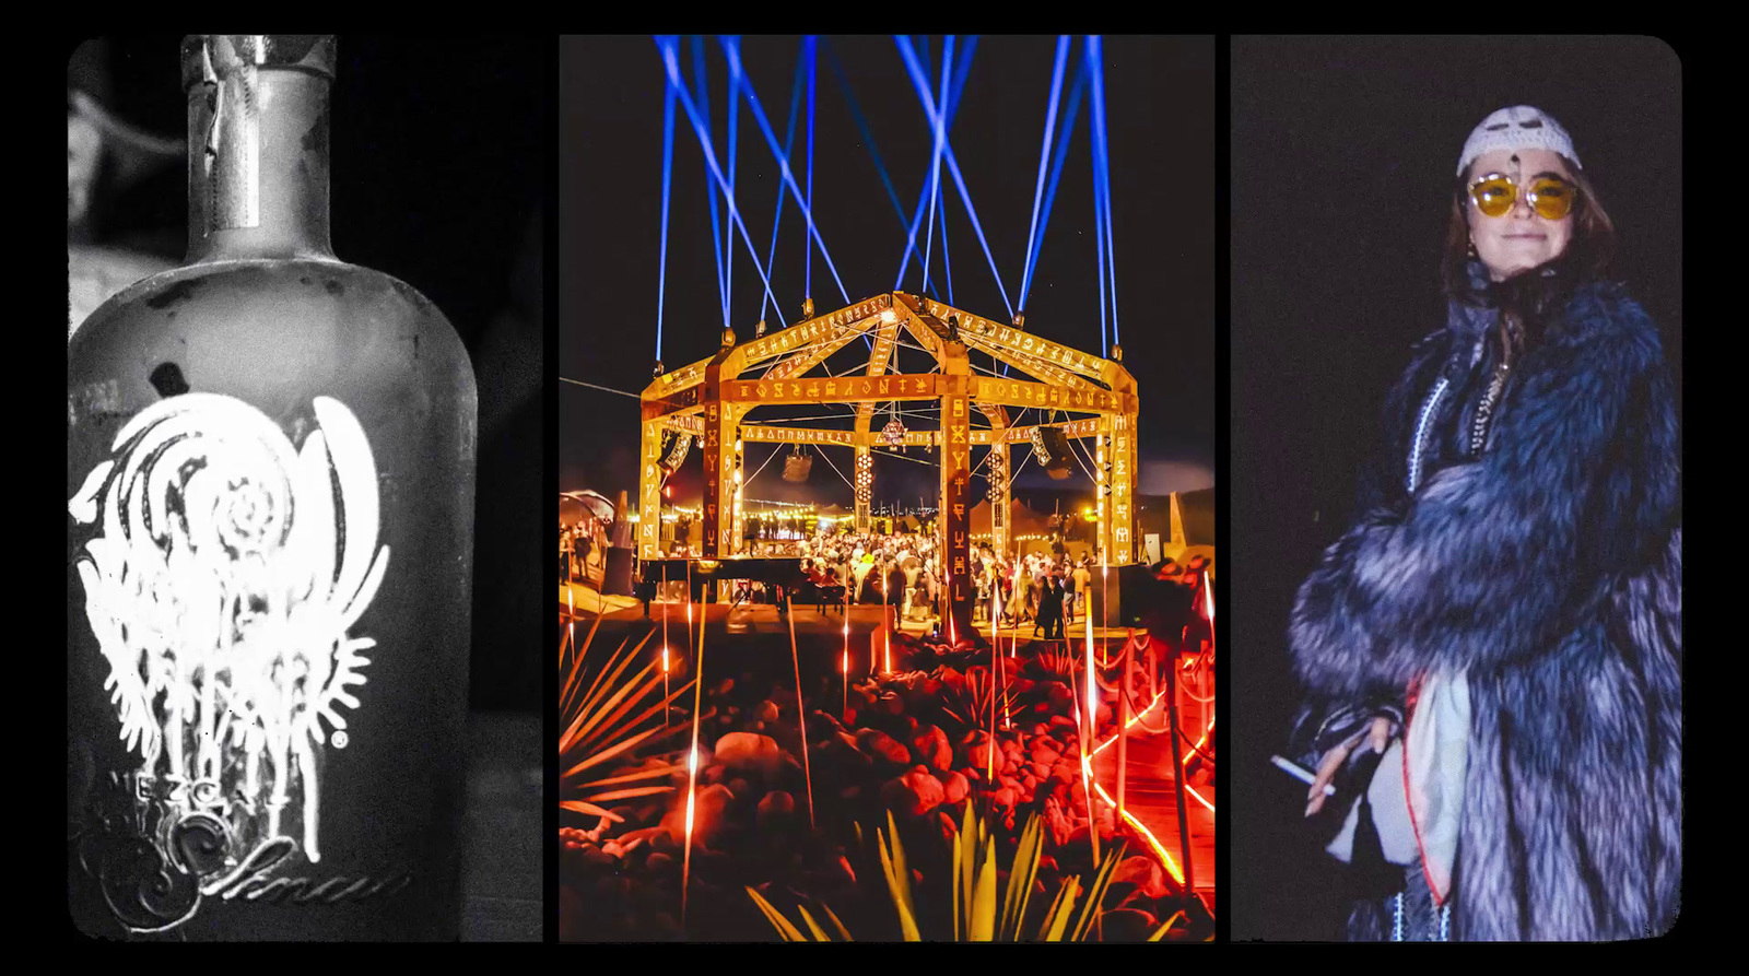
[[[1355,878],[1397,866],[1357,892],[1350,938],[1655,936],[1683,817],[1658,332],[1606,278],[1614,229],[1555,119],[1488,115],[1457,171],[1446,327],[1415,348],[1362,514],[1294,605],[1307,815],[1334,778],[1333,850],[1354,838]]]

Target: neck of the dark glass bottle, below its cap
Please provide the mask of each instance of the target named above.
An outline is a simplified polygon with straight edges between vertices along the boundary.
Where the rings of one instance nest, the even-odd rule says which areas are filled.
[[[241,65],[189,86],[189,264],[334,259],[331,84]]]

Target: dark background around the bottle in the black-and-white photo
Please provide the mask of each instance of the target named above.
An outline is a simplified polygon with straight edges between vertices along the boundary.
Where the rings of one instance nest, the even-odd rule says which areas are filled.
[[[182,138],[180,35],[72,51],[68,84],[133,126]],[[341,261],[411,283],[455,325],[479,383],[474,708],[539,712],[547,603],[542,474],[542,210],[551,152],[551,37],[338,38],[331,215]],[[175,161],[100,192],[100,240],[180,261],[185,171]]]

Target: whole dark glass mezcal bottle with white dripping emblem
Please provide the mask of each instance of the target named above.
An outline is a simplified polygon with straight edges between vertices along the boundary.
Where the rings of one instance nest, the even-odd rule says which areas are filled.
[[[68,906],[455,939],[476,390],[329,245],[331,37],[191,37],[189,257],[66,353]]]

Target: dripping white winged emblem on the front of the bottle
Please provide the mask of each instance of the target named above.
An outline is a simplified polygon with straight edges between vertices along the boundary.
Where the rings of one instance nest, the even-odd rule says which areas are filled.
[[[98,528],[77,568],[142,822],[198,878],[282,836],[322,859],[320,752],[376,644],[350,635],[388,567],[376,462],[345,404],[313,406],[297,450],[243,401],[159,401],[68,502]]]

